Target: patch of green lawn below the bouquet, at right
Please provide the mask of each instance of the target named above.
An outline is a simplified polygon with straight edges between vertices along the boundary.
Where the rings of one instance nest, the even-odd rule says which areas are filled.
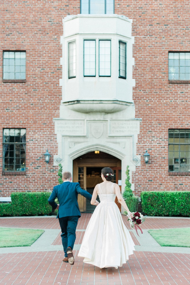
[[[161,247],[190,247],[190,228],[149,230]]]

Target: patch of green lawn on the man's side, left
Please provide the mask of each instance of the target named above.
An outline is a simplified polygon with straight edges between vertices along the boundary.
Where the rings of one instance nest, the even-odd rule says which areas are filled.
[[[29,247],[44,230],[0,228],[0,247]]]

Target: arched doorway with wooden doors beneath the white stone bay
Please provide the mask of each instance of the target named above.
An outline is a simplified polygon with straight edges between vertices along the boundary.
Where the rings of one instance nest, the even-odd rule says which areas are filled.
[[[81,188],[92,194],[96,184],[102,182],[103,167],[111,167],[114,173],[112,181],[121,185],[121,160],[102,151],[91,151],[73,160],[73,182],[79,182]],[[81,195],[78,196],[78,203],[81,212],[92,213],[96,207]],[[115,203],[121,211],[121,204],[117,201],[117,197]]]

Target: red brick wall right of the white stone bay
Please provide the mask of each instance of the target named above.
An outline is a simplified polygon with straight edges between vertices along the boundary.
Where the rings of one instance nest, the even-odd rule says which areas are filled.
[[[168,129],[190,128],[189,84],[168,83],[168,51],[190,51],[187,6],[180,0],[115,0],[115,14],[133,19],[133,99],[136,118],[142,118],[137,145],[141,166],[132,177],[138,195],[142,190],[189,190],[189,176],[168,175]]]

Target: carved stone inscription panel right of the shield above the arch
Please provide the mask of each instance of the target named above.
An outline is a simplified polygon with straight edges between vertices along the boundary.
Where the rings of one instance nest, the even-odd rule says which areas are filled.
[[[110,121],[110,136],[129,136],[139,134],[139,121]]]

